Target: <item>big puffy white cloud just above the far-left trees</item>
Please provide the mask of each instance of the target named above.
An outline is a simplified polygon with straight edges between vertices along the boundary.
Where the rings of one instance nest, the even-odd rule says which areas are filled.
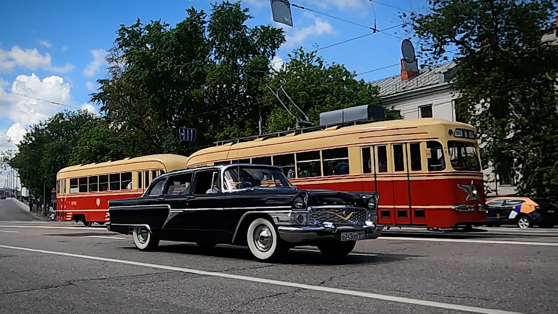
[[[70,84],[56,75],[42,80],[34,73],[18,75],[11,83],[11,92],[0,90],[0,117],[7,117],[13,122],[11,134],[21,133],[25,127],[44,121],[64,109],[62,106],[35,98],[63,104],[71,103]],[[15,126],[17,123],[20,125]]]

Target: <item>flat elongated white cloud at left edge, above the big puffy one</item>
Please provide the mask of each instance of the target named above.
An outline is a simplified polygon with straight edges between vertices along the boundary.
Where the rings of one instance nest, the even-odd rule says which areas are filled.
[[[10,50],[0,47],[0,73],[12,72],[16,66],[24,66],[30,70],[45,69],[56,73],[70,72],[74,69],[73,64],[58,67],[52,66],[49,53],[42,55],[37,48],[23,50],[20,46],[13,46]]]

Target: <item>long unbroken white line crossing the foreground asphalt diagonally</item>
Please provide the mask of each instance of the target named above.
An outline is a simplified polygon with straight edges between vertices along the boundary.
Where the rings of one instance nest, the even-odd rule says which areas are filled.
[[[329,292],[329,293],[335,293],[335,294],[343,294],[345,296],[363,297],[363,298],[377,299],[377,300],[388,301],[388,302],[397,302],[397,303],[405,303],[405,304],[420,305],[420,306],[427,306],[427,307],[444,308],[446,310],[455,310],[455,311],[482,313],[482,314],[523,314],[523,313],[520,313],[520,312],[496,310],[494,308],[482,308],[482,307],[476,307],[476,306],[457,305],[457,304],[452,304],[452,303],[427,301],[427,300],[413,299],[413,298],[406,298],[406,297],[388,296],[386,294],[378,294],[378,293],[363,292],[363,291],[354,291],[354,290],[348,290],[348,289],[339,289],[339,288],[331,288],[331,287],[323,287],[323,286],[314,286],[314,285],[311,285],[311,284],[287,282],[287,281],[281,281],[281,280],[275,280],[275,279],[264,279],[264,278],[257,278],[257,277],[248,277],[248,276],[244,276],[244,275],[235,275],[235,274],[218,273],[218,272],[207,272],[205,270],[198,270],[198,269],[190,269],[190,268],[182,268],[182,267],[174,267],[174,266],[166,266],[166,265],[158,265],[158,264],[150,264],[150,263],[141,263],[139,261],[132,261],[132,260],[102,258],[102,257],[98,257],[98,256],[71,254],[71,253],[64,253],[64,252],[57,252],[57,251],[47,251],[47,250],[37,250],[37,249],[21,248],[21,247],[18,247],[18,246],[9,246],[9,245],[0,245],[0,248],[10,249],[10,250],[28,251],[28,252],[34,252],[34,253],[44,253],[44,254],[51,254],[51,255],[68,256],[68,257],[73,257],[73,258],[81,258],[81,259],[89,259],[89,260],[108,261],[110,263],[126,264],[126,265],[133,265],[133,266],[140,266],[140,267],[147,267],[147,268],[155,268],[155,269],[164,269],[164,270],[171,270],[171,271],[174,271],[174,272],[189,273],[189,274],[196,274],[196,275],[205,275],[205,276],[219,277],[219,278],[228,278],[228,279],[242,280],[242,281],[247,281],[247,282],[272,284],[272,285],[275,285],[275,286],[299,288],[299,289],[305,289],[305,290],[310,290],[310,291]]]

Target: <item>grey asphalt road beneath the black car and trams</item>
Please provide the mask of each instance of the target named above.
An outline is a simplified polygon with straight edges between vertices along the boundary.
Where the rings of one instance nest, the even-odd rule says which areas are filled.
[[[13,212],[0,201],[0,217]],[[420,231],[420,230],[419,230]],[[331,261],[161,242],[69,222],[0,221],[6,313],[557,313],[558,230],[390,230]]]

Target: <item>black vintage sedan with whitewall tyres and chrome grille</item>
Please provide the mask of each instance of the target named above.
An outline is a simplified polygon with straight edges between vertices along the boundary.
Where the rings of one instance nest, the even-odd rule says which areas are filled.
[[[380,235],[377,202],[377,193],[297,189],[275,166],[204,166],[161,175],[142,197],[110,201],[108,230],[132,234],[140,250],[169,240],[246,245],[260,260],[297,245],[344,256]]]

